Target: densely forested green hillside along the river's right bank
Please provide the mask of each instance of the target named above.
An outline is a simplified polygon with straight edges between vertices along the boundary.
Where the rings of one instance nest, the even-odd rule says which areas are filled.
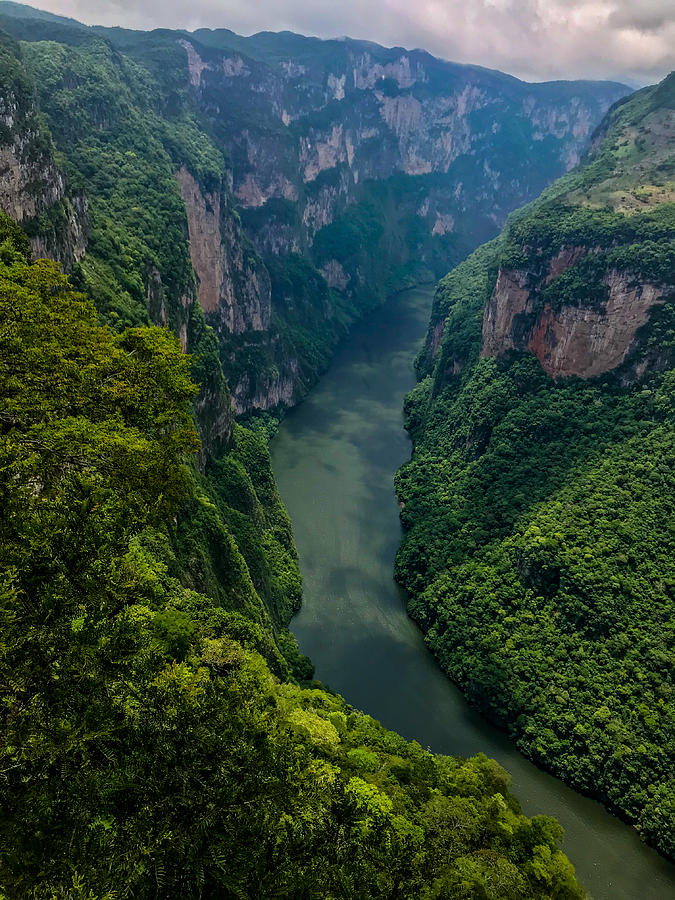
[[[397,577],[442,667],[527,756],[669,856],[673,128],[671,74],[617,104],[585,164],[440,282],[406,400],[414,456],[397,476],[407,530]],[[486,354],[486,329],[504,313],[498,278],[502,299],[527,291],[527,304],[505,351]],[[551,378],[535,356],[541,323],[581,310],[605,315],[611,335],[613,284],[636,297],[653,286],[660,300],[614,368]]]

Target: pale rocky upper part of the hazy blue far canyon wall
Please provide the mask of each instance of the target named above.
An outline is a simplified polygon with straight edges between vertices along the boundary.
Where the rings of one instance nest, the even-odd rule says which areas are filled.
[[[358,199],[359,184],[395,174],[442,176],[421,183],[414,214],[427,236],[452,231],[481,200],[496,229],[578,162],[626,93],[528,85],[421,51],[293,37],[285,45],[283,35],[199,31],[180,44],[186,77],[231,156],[237,201],[296,204],[301,243]]]

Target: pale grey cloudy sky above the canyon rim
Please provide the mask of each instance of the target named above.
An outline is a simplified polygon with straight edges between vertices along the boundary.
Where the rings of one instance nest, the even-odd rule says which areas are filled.
[[[675,0],[36,0],[88,24],[290,29],[423,47],[521,78],[648,84],[675,68]]]

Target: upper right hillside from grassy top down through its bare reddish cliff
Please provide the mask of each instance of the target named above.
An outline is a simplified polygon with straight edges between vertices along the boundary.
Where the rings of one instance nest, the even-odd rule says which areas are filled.
[[[646,98],[619,107],[586,166],[507,232],[483,357],[528,351],[553,378],[616,371],[624,384],[669,365],[654,329],[675,281],[674,76]]]

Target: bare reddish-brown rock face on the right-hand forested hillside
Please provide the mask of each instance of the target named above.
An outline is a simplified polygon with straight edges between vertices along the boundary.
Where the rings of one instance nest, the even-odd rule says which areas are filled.
[[[583,247],[563,248],[543,279],[523,269],[500,269],[483,314],[481,355],[527,350],[552,378],[593,378],[619,368],[638,349],[638,332],[652,309],[665,302],[666,287],[608,269],[601,279],[606,300],[600,307],[582,296],[574,306],[557,309],[542,303],[541,288],[587,252]],[[646,369],[638,364],[626,377],[642,377]]]

